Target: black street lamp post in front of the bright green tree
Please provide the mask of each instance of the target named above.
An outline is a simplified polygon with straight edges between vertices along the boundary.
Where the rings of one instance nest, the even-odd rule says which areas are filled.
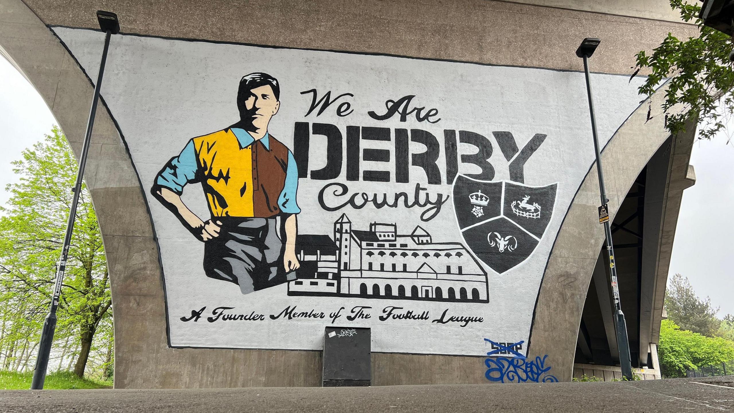
[[[59,307],[59,297],[61,295],[61,285],[64,280],[66,271],[66,261],[69,256],[69,246],[71,244],[71,234],[74,229],[74,220],[76,219],[76,206],[79,204],[79,195],[81,195],[81,183],[84,178],[84,167],[87,165],[87,154],[89,154],[90,140],[92,138],[92,127],[94,126],[94,118],[97,113],[97,102],[99,101],[99,91],[102,87],[102,76],[104,75],[104,65],[107,61],[107,50],[109,49],[109,38],[120,32],[120,23],[117,21],[117,15],[113,12],[97,11],[97,20],[103,32],[104,49],[102,51],[102,61],[99,65],[99,73],[97,74],[97,82],[94,87],[94,96],[92,97],[92,108],[90,109],[89,119],[87,121],[87,133],[84,135],[84,144],[81,147],[81,158],[79,159],[79,171],[76,173],[76,184],[74,184],[74,197],[71,201],[69,210],[69,219],[66,223],[66,235],[64,237],[64,245],[61,250],[61,258],[56,272],[56,284],[54,285],[54,297],[51,298],[51,308],[48,309],[48,316],[43,321],[43,330],[41,330],[41,340],[38,346],[38,356],[36,364],[33,368],[33,381],[31,389],[43,389],[43,382],[46,381],[46,369],[48,367],[48,358],[51,356],[51,344],[54,342],[54,332],[56,331],[56,310]]]

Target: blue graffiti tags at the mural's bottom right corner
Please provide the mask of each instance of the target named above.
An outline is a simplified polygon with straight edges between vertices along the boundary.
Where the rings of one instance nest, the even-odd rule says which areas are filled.
[[[484,360],[484,364],[487,366],[487,373],[484,376],[489,381],[500,381],[501,383],[525,383],[526,381],[532,381],[534,383],[548,383],[556,382],[558,378],[551,374],[551,366],[545,365],[545,359],[548,358],[548,354],[545,356],[536,357],[534,360],[528,361],[527,357],[517,352],[516,349],[521,349],[524,342],[513,342],[513,343],[498,343],[493,342],[489,339],[484,339],[486,342],[490,342],[493,350],[487,353],[487,356],[493,356],[498,353],[512,353],[515,356],[510,357],[487,357]]]

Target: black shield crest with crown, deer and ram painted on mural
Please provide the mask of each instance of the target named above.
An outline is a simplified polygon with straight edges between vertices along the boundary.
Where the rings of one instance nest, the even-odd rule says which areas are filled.
[[[466,245],[498,273],[525,261],[551,222],[557,189],[457,176],[454,210]]]

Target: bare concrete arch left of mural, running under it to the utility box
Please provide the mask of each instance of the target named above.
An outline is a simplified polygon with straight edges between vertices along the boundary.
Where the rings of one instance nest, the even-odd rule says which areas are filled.
[[[79,159],[94,90],[87,78],[90,73],[79,68],[23,1],[0,0],[0,22],[0,54],[43,97]],[[109,266],[115,387],[319,386],[318,351],[169,347],[159,251],[148,206],[125,143],[103,102],[97,110],[84,181]],[[232,376],[212,373],[232,365],[250,366],[249,373],[231,369]],[[268,370],[290,373],[272,375]]]

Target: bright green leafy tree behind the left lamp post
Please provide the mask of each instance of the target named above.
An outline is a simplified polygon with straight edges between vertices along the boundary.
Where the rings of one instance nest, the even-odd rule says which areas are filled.
[[[78,168],[61,130],[13,162],[21,176],[0,208],[0,368],[33,367],[54,288]],[[54,363],[84,376],[90,353],[110,353],[112,304],[102,237],[90,195],[82,187],[54,337]]]

